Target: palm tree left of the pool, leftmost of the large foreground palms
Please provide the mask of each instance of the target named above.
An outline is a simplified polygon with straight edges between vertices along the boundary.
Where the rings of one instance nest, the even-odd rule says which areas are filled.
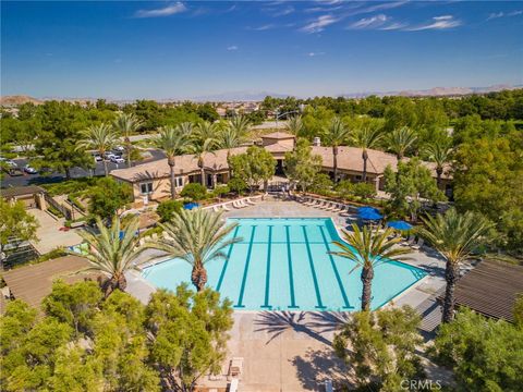
[[[136,236],[137,217],[133,217],[125,226],[122,226],[120,218],[114,216],[109,228],[100,218],[96,218],[96,228],[99,234],[88,231],[78,233],[87,243],[87,254],[83,257],[90,264],[90,267],[82,271],[96,271],[107,277],[102,283],[107,297],[117,289],[125,290],[127,285],[125,272],[136,269],[136,258],[145,247],[139,245],[139,238]]]

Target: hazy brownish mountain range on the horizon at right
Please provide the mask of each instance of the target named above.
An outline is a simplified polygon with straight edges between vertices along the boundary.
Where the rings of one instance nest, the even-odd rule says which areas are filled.
[[[372,95],[382,96],[403,96],[403,97],[448,97],[448,96],[463,96],[470,94],[487,94],[501,90],[511,90],[521,88],[522,85],[507,85],[499,84],[488,87],[434,87],[422,90],[401,90],[401,91],[363,91],[342,94],[346,98],[363,98]]]

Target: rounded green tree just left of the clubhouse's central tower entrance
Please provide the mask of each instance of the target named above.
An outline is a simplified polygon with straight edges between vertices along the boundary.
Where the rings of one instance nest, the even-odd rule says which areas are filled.
[[[229,160],[234,176],[243,180],[251,192],[266,184],[276,172],[276,160],[264,148],[252,146],[245,154],[232,156]]]

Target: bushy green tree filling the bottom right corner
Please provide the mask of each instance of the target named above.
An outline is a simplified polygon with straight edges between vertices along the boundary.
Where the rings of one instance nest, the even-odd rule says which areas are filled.
[[[523,329],[460,309],[434,343],[439,362],[453,368],[458,391],[521,391]]]

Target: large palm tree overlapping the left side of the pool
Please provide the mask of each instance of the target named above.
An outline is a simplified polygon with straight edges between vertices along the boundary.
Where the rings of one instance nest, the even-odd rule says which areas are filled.
[[[226,240],[238,223],[226,224],[221,213],[210,210],[180,210],[168,223],[158,223],[165,236],[146,244],[187,261],[193,270],[191,282],[199,292],[207,283],[205,265],[217,258],[227,258],[223,249],[242,241],[240,237]]]

